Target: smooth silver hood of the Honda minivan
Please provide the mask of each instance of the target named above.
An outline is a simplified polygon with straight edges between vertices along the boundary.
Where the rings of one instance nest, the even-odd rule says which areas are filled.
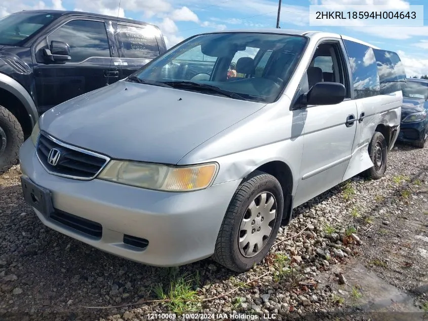
[[[111,158],[176,164],[264,105],[119,81],[50,109],[40,128]]]

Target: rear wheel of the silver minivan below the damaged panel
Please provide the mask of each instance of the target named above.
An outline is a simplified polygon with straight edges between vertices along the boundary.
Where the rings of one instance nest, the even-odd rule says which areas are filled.
[[[379,152],[381,152],[379,157]],[[363,175],[367,178],[378,180],[385,174],[387,164],[388,146],[382,133],[375,131],[369,144],[369,155],[374,166],[364,171]],[[379,162],[380,159],[380,162]]]

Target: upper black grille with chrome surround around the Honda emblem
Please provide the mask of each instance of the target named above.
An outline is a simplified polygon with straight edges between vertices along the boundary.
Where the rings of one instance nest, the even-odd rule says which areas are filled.
[[[48,161],[52,149],[59,152],[54,165]],[[70,146],[43,132],[37,142],[37,157],[50,173],[80,180],[93,179],[109,161],[108,157]]]

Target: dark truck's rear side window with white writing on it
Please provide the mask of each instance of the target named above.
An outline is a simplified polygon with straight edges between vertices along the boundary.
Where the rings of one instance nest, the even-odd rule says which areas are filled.
[[[160,55],[157,29],[118,24],[122,58],[153,59]]]

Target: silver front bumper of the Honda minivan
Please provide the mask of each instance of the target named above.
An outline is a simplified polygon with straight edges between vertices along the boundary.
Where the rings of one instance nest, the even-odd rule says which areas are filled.
[[[101,224],[94,238],[53,220],[35,208],[46,226],[102,251],[154,266],[178,266],[211,256],[229,202],[240,181],[206,190],[168,193],[102,180],[79,181],[49,174],[30,139],[19,155],[24,177],[51,191],[58,212]],[[124,243],[124,235],[148,240],[141,249]]]

